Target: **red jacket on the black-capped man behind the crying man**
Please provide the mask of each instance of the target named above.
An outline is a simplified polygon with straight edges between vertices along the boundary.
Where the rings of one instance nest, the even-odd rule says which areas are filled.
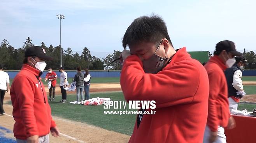
[[[217,131],[218,126],[226,127],[230,117],[228,84],[224,74],[226,68],[216,55],[205,64],[210,84],[207,125],[211,131]]]

